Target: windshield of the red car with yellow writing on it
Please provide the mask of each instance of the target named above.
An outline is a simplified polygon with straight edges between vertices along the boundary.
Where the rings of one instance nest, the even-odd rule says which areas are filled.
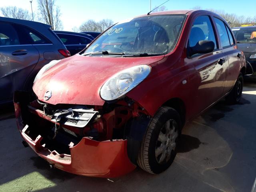
[[[156,15],[117,23],[90,44],[82,54],[166,54],[174,49],[185,18],[184,14]]]

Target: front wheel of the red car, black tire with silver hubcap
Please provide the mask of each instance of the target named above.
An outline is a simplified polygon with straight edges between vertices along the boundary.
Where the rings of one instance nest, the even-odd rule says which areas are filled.
[[[164,133],[164,128],[168,122],[170,125],[172,123],[172,130],[174,130],[175,137],[170,136],[170,134],[168,134],[170,132],[167,133],[166,131]],[[178,112],[170,107],[161,107],[154,118],[152,118],[141,142],[137,160],[140,168],[152,174],[159,174],[166,170],[172,164],[176,156],[176,145],[178,143],[178,137],[180,136],[180,130],[181,120]],[[164,135],[164,138],[167,139],[167,141],[164,142],[165,145],[163,142],[159,141],[160,134],[161,136]],[[172,138],[175,139],[172,140]],[[158,156],[157,151],[159,151],[159,148],[164,150],[164,152]],[[164,155],[166,155],[166,159],[160,162],[161,158],[164,158]]]

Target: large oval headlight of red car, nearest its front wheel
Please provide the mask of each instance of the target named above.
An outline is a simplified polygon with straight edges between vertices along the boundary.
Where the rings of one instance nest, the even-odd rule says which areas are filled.
[[[116,73],[100,89],[101,98],[111,101],[122,97],[142,82],[150,71],[150,66],[138,65]]]

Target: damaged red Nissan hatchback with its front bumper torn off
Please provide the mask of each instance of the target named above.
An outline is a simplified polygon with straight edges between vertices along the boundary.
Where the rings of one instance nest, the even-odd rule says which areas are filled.
[[[118,177],[174,161],[184,124],[221,98],[239,102],[246,72],[230,27],[203,10],[158,12],[110,27],[16,91],[26,143],[58,169]],[[33,99],[34,98],[34,99]]]

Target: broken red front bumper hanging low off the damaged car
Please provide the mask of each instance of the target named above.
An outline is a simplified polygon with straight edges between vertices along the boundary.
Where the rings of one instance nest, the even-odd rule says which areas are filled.
[[[29,125],[22,124],[21,105],[14,99],[18,128],[24,140],[38,154],[54,167],[73,174],[114,178],[125,175],[136,168],[127,154],[127,140],[107,140],[98,142],[84,137],[76,146],[70,146],[69,154],[58,154],[41,144],[42,136],[32,140],[26,130]]]

